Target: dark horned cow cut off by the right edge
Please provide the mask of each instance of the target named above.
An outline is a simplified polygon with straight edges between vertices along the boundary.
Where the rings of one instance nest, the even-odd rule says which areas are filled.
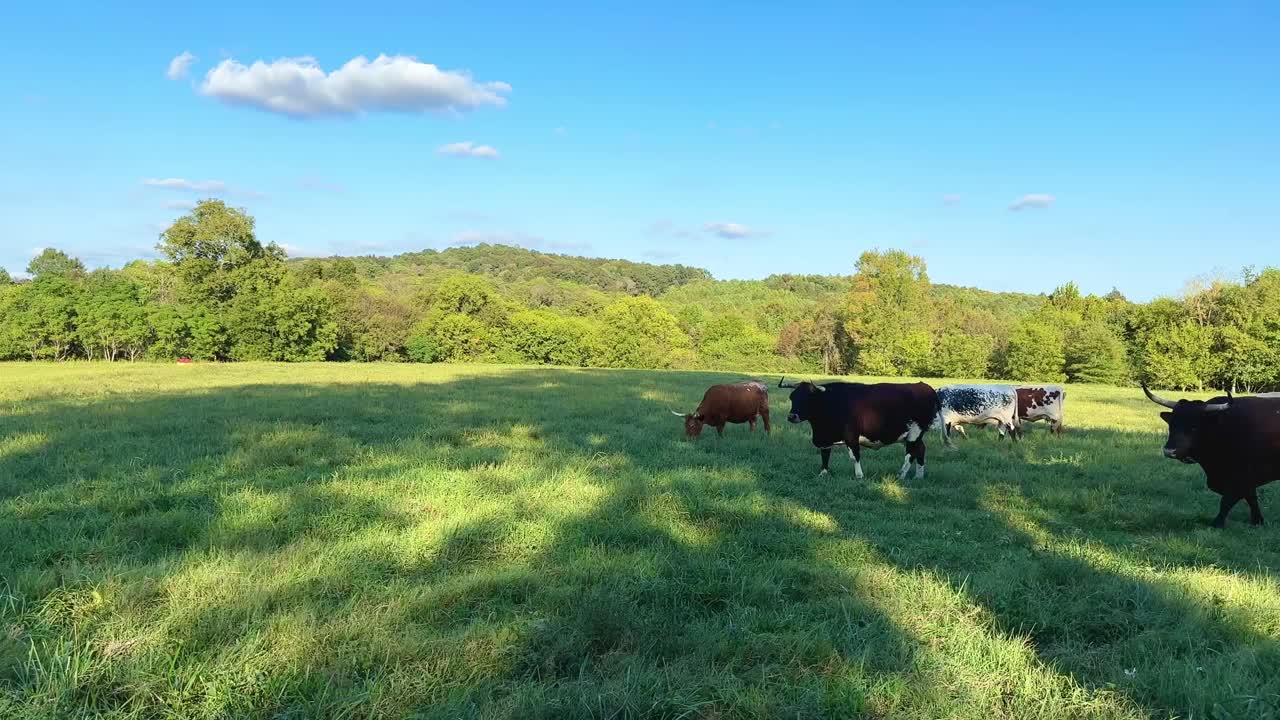
[[[1226,525],[1226,515],[1242,498],[1249,503],[1249,523],[1262,524],[1258,487],[1280,478],[1280,397],[1215,397],[1165,400],[1142,387],[1147,397],[1170,413],[1165,457],[1198,464],[1208,489],[1222,496],[1213,527]]]

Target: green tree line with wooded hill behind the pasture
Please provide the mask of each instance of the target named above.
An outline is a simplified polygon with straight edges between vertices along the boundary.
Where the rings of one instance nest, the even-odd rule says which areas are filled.
[[[1280,270],[1147,304],[934,284],[868,251],[851,275],[707,270],[481,245],[289,260],[200,202],[161,259],[96,269],[45,250],[0,270],[0,360],[520,363],[1280,387]]]

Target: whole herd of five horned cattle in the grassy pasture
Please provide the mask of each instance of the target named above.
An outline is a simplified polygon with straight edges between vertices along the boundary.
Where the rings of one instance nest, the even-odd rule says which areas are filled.
[[[1055,433],[1064,430],[1066,391],[1061,386],[959,384],[933,389],[925,383],[845,383],[778,380],[791,389],[788,423],[809,423],[813,445],[822,454],[822,475],[831,462],[831,450],[845,446],[854,462],[854,477],[863,478],[861,448],[886,445],[906,447],[899,478],[911,468],[924,477],[924,434],[936,428],[951,446],[951,433],[964,434],[964,425],[992,425],[1001,437],[1021,437],[1023,423],[1047,420]],[[1215,528],[1226,524],[1236,502],[1249,505],[1249,521],[1262,524],[1257,488],[1280,478],[1280,393],[1225,397],[1208,401],[1165,400],[1143,386],[1152,402],[1170,409],[1161,413],[1169,424],[1165,457],[1199,464],[1208,488],[1222,496]],[[705,425],[724,434],[727,423],[764,423],[769,432],[769,389],[759,380],[712,386],[692,413],[684,418],[685,434],[698,438]]]

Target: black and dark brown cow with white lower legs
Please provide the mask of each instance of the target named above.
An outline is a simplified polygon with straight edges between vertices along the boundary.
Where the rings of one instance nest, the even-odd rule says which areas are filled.
[[[854,477],[863,478],[861,448],[877,450],[902,443],[906,457],[899,479],[915,465],[924,477],[924,432],[938,414],[938,396],[924,383],[786,383],[791,389],[788,423],[808,421],[813,445],[822,451],[822,475],[828,473],[831,448],[844,445],[854,461]]]

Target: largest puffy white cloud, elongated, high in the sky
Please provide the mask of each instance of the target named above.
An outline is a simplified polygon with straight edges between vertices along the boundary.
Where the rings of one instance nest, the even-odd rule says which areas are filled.
[[[503,106],[511,86],[476,82],[461,70],[442,70],[407,55],[357,56],[326,73],[314,58],[284,58],[244,65],[223,60],[205,76],[200,92],[297,118],[362,113],[424,113]]]

